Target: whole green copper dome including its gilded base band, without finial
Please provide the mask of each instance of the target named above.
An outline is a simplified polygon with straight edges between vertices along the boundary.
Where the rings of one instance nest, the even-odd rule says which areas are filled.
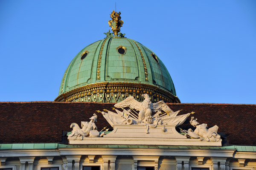
[[[172,78],[156,54],[137,41],[111,37],[76,55],[64,73],[55,101],[117,102],[122,99],[108,100],[107,96],[134,95],[140,99],[144,93],[151,95],[153,102],[180,102]]]

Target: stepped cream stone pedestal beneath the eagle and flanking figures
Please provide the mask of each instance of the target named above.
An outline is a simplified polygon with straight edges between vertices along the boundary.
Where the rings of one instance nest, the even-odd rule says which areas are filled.
[[[111,133],[103,137],[86,137],[83,140],[69,139],[70,144],[134,144],[134,145],[179,145],[179,146],[221,146],[221,142],[187,139],[175,129],[175,126],[163,125],[148,127],[145,125],[114,125]]]

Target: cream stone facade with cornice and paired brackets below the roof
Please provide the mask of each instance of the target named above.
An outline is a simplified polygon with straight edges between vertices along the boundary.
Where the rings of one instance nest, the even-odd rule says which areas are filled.
[[[120,148],[119,148],[120,149]],[[57,150],[0,150],[0,169],[82,170],[83,166],[100,166],[101,170],[136,170],[137,166],[155,170],[256,170],[255,152],[195,149],[65,148]]]

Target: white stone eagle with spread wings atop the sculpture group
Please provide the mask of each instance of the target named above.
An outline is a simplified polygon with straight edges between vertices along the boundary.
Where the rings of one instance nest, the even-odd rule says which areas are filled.
[[[165,102],[160,101],[157,103],[152,103],[149,99],[148,94],[143,94],[141,96],[145,96],[145,99],[143,102],[138,102],[136,99],[134,99],[133,96],[127,97],[122,102],[116,103],[114,107],[116,108],[125,108],[129,107],[131,109],[134,109],[136,111],[139,111],[138,113],[138,120],[143,121],[145,117],[151,116],[152,113],[160,114],[163,110],[166,113],[172,113],[173,111],[166,105]]]

